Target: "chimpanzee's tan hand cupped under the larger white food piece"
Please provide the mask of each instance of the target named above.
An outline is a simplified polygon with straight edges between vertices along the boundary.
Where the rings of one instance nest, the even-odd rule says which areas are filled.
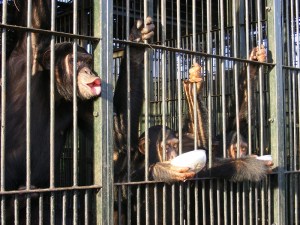
[[[195,176],[188,167],[176,167],[170,161],[158,162],[150,167],[152,177],[156,181],[175,182],[186,181]]]

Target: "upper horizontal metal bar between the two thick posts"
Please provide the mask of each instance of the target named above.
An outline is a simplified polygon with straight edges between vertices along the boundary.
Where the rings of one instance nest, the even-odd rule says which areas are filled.
[[[126,41],[126,40],[114,40],[114,43],[120,43],[120,44],[132,45],[132,46],[148,47],[148,48],[152,48],[152,49],[167,50],[167,51],[170,51],[170,52],[185,53],[185,54],[190,54],[190,55],[203,56],[203,57],[207,57],[207,58],[216,58],[216,59],[224,59],[224,60],[229,60],[229,61],[252,63],[252,64],[264,65],[264,66],[268,66],[268,67],[274,67],[275,66],[274,63],[258,62],[258,61],[253,61],[253,60],[249,60],[249,59],[214,55],[214,54],[208,54],[208,53],[204,53],[204,52],[197,52],[197,51],[192,51],[192,50],[162,46],[162,45],[158,45],[158,44],[148,44],[148,43],[145,44],[145,43],[141,43],[141,42],[133,42],[133,41]]]

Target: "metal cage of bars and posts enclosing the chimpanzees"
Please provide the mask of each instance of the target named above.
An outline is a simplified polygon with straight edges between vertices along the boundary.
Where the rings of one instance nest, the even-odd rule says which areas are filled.
[[[52,0],[51,30],[36,30],[30,24],[15,26],[18,1],[0,1],[0,4],[1,224],[10,224],[6,211],[9,201],[13,204],[15,224],[46,224],[43,218],[48,214],[49,224],[300,223],[298,0]],[[147,16],[153,18],[154,37],[146,43],[130,42],[134,21],[145,20]],[[67,41],[84,47],[93,54],[94,70],[102,79],[102,94],[93,109],[93,141],[87,140],[77,129],[75,92],[72,128],[59,163],[49,162],[51,180],[48,188],[33,188],[30,177],[25,188],[5,188],[5,107],[9,92],[6,89],[6,60],[19,31],[26,32],[28,37],[46,32],[53,44]],[[146,144],[145,176],[142,181],[135,181],[130,176],[135,168],[129,125],[128,148],[124,151],[126,158],[122,167],[125,175],[114,180],[114,174],[121,168],[113,165],[113,94],[120,62],[130,56],[130,48],[134,45],[145,48],[144,104],[139,134],[145,132],[147,139],[149,127],[163,125],[175,131],[182,141],[188,116],[182,82],[188,78],[192,64],[198,62],[202,67],[204,100],[208,109],[209,157],[216,137],[223,142],[223,157],[228,156],[226,129],[233,125],[239,114],[239,74],[243,68],[250,67],[251,49],[264,45],[267,62],[255,63],[258,67],[257,85],[252,87],[255,103],[250,106],[255,110],[253,117],[248,117],[245,132],[248,134],[248,154],[271,154],[273,172],[258,183],[234,183],[197,176],[186,182],[155,182],[150,179],[149,146]],[[127,71],[130,71],[129,63]],[[248,80],[249,73],[246,73]],[[27,74],[28,80],[30,75]],[[130,84],[124,88],[129,92]],[[30,88],[27,92],[30,93]],[[54,121],[52,114],[49,123]],[[34,118],[29,117],[26,122],[30,125]],[[235,123],[234,129],[239,133],[244,128]],[[26,168],[30,174],[30,139],[34,137],[27,135]],[[241,137],[238,135],[237,139]],[[165,141],[163,134],[163,143]],[[54,143],[53,138],[50,154],[55,152],[51,147]],[[179,146],[181,153],[182,145]],[[24,199],[25,219],[19,221],[16,218],[19,218]],[[31,214],[35,201],[39,215]]]

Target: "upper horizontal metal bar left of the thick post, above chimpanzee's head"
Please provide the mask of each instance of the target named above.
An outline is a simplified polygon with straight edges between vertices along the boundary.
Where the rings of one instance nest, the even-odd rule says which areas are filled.
[[[16,26],[16,25],[8,25],[0,23],[0,28],[8,28],[8,29],[14,29],[14,30],[21,30],[21,31],[29,31],[33,33],[41,33],[41,34],[51,34],[54,36],[62,36],[62,37],[68,37],[68,38],[74,38],[74,39],[80,39],[80,40],[89,40],[93,42],[99,42],[101,38],[99,37],[93,37],[93,36],[86,36],[86,35],[80,35],[80,34],[70,34],[65,32],[59,32],[59,31],[50,31],[50,30],[43,30],[43,29],[37,29],[37,28],[29,28],[29,27],[22,27],[22,26]]]

